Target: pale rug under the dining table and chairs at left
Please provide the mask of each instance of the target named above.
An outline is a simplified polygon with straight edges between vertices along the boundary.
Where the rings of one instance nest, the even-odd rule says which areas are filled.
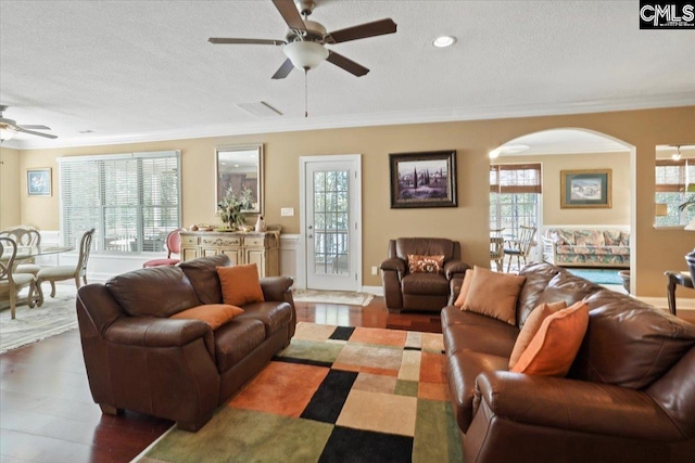
[[[43,305],[29,309],[27,305],[16,308],[12,320],[9,304],[0,310],[0,353],[36,343],[77,327],[75,309],[75,285],[55,285],[52,298],[51,286],[43,285]],[[21,297],[26,296],[26,291]]]

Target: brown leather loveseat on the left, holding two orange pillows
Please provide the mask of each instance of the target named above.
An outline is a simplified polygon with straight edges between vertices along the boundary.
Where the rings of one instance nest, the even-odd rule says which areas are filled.
[[[229,265],[225,255],[203,257],[79,288],[87,376],[104,413],[134,410],[198,430],[290,343],[296,314],[286,276],[262,278],[265,301],[242,306],[214,332],[199,320],[168,318],[222,303],[216,267]]]

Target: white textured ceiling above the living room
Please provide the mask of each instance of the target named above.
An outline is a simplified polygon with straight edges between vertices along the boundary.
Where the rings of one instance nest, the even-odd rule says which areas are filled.
[[[397,33],[331,46],[371,69],[323,63],[270,76],[283,39],[269,0],[0,2],[4,117],[51,127],[66,146],[324,127],[695,104],[692,30],[640,30],[637,1],[317,0],[330,30],[391,17]],[[431,41],[458,41],[435,49]],[[686,59],[686,56],[691,56]],[[265,101],[283,116],[237,104]],[[91,130],[92,133],[80,133]]]

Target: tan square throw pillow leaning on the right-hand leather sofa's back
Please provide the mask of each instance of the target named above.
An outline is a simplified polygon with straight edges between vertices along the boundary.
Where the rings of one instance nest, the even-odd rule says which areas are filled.
[[[473,267],[470,288],[462,310],[481,313],[509,324],[517,321],[517,299],[526,276]]]

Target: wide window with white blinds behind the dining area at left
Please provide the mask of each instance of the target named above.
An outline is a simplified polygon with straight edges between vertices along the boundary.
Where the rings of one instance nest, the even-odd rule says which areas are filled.
[[[164,250],[180,227],[180,152],[59,158],[61,234],[76,245],[94,228],[97,252]]]

